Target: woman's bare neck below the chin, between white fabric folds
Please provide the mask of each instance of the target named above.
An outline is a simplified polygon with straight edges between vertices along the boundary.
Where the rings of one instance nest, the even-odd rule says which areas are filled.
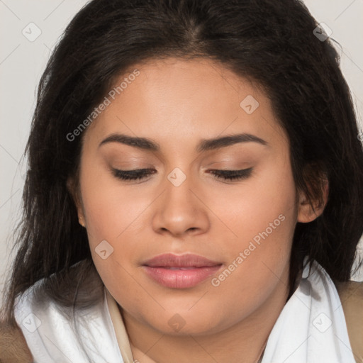
[[[241,359],[244,363],[257,363],[290,297],[287,285],[279,283],[269,298],[247,318],[214,334],[168,335],[143,324],[120,308],[133,359],[142,363],[240,363]],[[298,283],[294,291],[297,286]]]

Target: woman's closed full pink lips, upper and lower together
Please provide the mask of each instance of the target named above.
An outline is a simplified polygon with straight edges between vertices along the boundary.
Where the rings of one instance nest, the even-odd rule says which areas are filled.
[[[152,281],[172,289],[186,289],[216,274],[222,264],[199,255],[167,253],[149,259],[143,269]]]

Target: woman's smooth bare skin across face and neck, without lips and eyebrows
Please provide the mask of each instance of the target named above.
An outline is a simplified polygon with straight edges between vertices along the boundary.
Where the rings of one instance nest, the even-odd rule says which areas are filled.
[[[296,191],[289,140],[261,87],[206,59],[150,60],[134,68],[140,75],[84,135],[75,199],[96,269],[121,307],[134,359],[256,362],[286,303],[296,222],[315,219],[323,206],[313,213]],[[248,95],[259,102],[251,114],[240,106]],[[160,151],[99,146],[112,133],[150,138]],[[196,151],[201,139],[237,133],[267,145]],[[156,172],[123,181],[111,167]],[[167,178],[176,167],[186,177],[179,186]],[[250,176],[239,181],[208,172],[250,167]],[[222,272],[281,215],[284,220],[219,286],[208,278],[171,289],[143,271],[147,259],[190,252],[223,264]],[[113,247],[106,259],[95,250],[103,240]],[[184,324],[179,331],[173,317]]]

